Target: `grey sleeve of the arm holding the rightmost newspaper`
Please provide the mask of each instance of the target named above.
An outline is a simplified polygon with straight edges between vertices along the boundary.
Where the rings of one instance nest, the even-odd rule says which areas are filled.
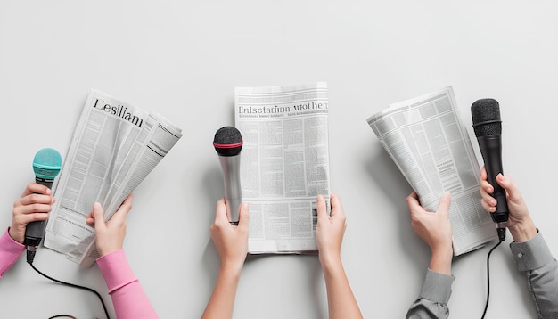
[[[440,274],[428,269],[424,276],[421,294],[407,311],[406,318],[447,318],[449,316],[447,301],[454,280],[453,275]]]

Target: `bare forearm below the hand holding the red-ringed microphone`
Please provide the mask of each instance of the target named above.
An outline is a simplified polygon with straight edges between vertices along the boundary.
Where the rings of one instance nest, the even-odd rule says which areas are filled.
[[[207,307],[202,319],[232,318],[234,310],[234,299],[242,273],[242,266],[221,265],[217,274],[217,282],[211,293]]]

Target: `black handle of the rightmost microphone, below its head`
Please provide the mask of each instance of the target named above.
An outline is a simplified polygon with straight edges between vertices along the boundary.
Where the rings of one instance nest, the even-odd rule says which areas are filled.
[[[496,211],[490,214],[492,221],[504,223],[508,219],[509,211],[505,198],[505,189],[496,182],[496,176],[503,173],[502,169],[502,135],[485,135],[477,138],[480,152],[487,171],[487,181],[494,188],[492,197],[496,199]]]

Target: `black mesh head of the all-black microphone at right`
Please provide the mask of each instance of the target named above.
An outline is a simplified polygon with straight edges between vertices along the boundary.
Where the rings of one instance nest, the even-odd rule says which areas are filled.
[[[500,104],[495,99],[480,99],[471,106],[472,127],[477,137],[502,134]]]

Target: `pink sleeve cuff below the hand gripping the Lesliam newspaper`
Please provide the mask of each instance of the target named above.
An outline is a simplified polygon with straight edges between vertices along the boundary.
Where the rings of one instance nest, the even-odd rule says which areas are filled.
[[[122,249],[97,258],[97,265],[101,274],[103,274],[109,294],[127,284],[137,282],[137,278],[135,278],[135,274],[132,272]]]

